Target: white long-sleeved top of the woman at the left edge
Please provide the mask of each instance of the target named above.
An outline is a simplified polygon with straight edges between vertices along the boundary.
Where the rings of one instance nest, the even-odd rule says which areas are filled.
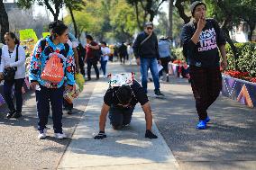
[[[18,61],[15,62],[16,58],[16,48],[17,45],[15,45],[14,51],[11,54],[11,57],[9,55],[8,46],[4,45],[2,48],[2,58],[1,58],[1,65],[0,65],[0,73],[4,72],[5,66],[10,65],[10,67],[17,67],[17,71],[15,73],[14,79],[24,78],[25,77],[25,50],[23,49],[23,46],[20,45],[18,49]]]

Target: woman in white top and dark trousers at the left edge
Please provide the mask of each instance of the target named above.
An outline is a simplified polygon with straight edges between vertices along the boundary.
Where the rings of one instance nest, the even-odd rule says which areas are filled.
[[[5,81],[4,83],[4,94],[5,102],[8,105],[9,112],[6,115],[7,119],[12,117],[19,118],[22,116],[23,108],[23,93],[22,87],[25,77],[25,50],[23,46],[19,46],[19,40],[16,38],[14,32],[5,33],[6,45],[2,48],[2,59],[0,65],[0,79],[4,79],[3,72],[7,67],[17,67],[15,72],[14,80]],[[18,50],[17,50],[18,48]],[[18,51],[18,60],[15,61],[16,51]],[[14,107],[12,97],[12,87],[14,85],[15,98],[16,98],[16,109]]]

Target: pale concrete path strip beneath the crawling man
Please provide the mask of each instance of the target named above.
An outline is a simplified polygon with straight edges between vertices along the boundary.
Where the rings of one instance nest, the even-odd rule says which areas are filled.
[[[111,73],[123,72],[123,68],[112,66]],[[133,112],[133,120],[124,130],[112,130],[106,123],[106,139],[95,140],[98,132],[98,117],[107,89],[105,83],[97,83],[87,104],[87,109],[78,124],[72,141],[59,169],[177,169],[177,163],[159,130],[153,131],[159,139],[145,139],[144,113],[140,104]],[[108,120],[108,119],[107,119]]]

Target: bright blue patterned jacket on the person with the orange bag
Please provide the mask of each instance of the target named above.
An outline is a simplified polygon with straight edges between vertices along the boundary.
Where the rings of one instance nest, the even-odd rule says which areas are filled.
[[[40,85],[46,86],[48,88],[59,88],[64,84],[64,79],[67,78],[68,85],[75,85],[74,79],[74,52],[69,47],[69,52],[66,54],[65,46],[63,43],[55,45],[49,37],[46,39],[46,45],[43,50],[41,50],[41,40],[37,43],[34,51],[32,53],[31,67],[29,70],[30,82],[36,81]],[[51,54],[57,54],[60,58],[60,62],[63,64],[64,77],[59,83],[51,83],[41,79],[41,73],[44,69],[47,61],[49,60]],[[65,78],[66,76],[66,78]]]

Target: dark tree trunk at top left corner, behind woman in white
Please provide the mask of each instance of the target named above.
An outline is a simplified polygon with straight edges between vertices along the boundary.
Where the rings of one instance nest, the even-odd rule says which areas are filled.
[[[0,25],[1,25],[1,41],[5,43],[5,32],[9,31],[8,14],[5,11],[3,1],[0,1]]]

